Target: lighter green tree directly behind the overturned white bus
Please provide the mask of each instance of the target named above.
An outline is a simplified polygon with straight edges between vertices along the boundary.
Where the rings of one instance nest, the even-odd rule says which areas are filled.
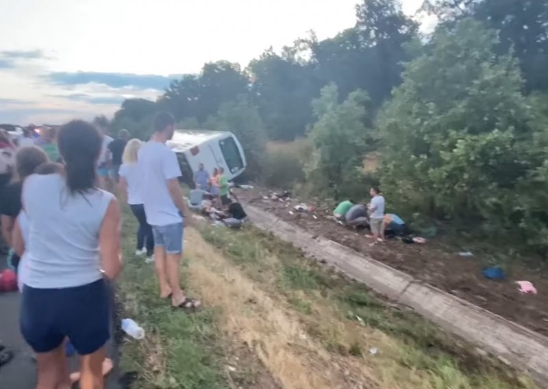
[[[238,96],[235,101],[223,103],[219,112],[210,116],[203,127],[230,131],[236,135],[247,160],[246,177],[259,177],[265,153],[266,131],[257,107],[245,95]]]

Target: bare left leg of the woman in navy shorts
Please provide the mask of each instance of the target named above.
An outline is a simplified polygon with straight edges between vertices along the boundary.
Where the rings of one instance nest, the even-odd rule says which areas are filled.
[[[71,380],[64,355],[64,343],[49,353],[36,353],[38,384],[36,389],[70,389]]]

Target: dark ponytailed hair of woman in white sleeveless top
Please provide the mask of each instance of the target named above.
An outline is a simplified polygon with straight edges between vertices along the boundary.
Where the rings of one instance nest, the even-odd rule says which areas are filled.
[[[95,188],[95,168],[101,142],[99,131],[86,121],[70,121],[61,127],[59,152],[65,163],[66,184],[73,194]]]

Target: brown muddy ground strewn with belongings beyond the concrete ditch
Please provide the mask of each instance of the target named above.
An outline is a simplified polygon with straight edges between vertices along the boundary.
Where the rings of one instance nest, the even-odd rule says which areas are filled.
[[[236,190],[236,193],[240,199],[272,212],[284,221],[295,223],[312,234],[345,244],[416,279],[548,336],[548,278],[545,275],[512,266],[506,279],[489,280],[482,275],[485,263],[481,258],[461,257],[458,250],[449,253],[436,240],[429,240],[426,244],[389,240],[386,244],[370,247],[371,240],[364,237],[363,231],[358,234],[326,218],[332,210],[325,207],[316,208],[310,204],[314,206],[313,212],[295,212],[292,208],[298,203],[297,200],[282,202],[264,199],[270,194],[267,190]],[[514,283],[521,280],[531,281],[538,294],[519,292]]]

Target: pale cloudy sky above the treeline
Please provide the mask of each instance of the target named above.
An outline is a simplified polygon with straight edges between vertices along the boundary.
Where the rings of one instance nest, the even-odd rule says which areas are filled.
[[[314,30],[355,22],[357,0],[0,0],[0,123],[112,115],[206,62],[247,66]],[[422,0],[403,0],[413,14]]]

